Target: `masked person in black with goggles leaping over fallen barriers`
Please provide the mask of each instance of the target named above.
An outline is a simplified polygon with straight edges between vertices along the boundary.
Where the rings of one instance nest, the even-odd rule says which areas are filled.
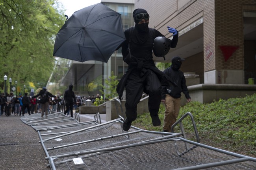
[[[133,12],[135,26],[124,31],[126,40],[122,44],[122,56],[128,64],[128,70],[117,86],[119,99],[122,100],[124,87],[126,88],[125,114],[123,130],[128,131],[132,121],[137,119],[137,104],[143,91],[149,95],[148,110],[153,126],[160,126],[158,111],[161,104],[161,83],[163,72],[156,68],[153,60],[153,44],[156,37],[164,37],[158,30],[149,28],[149,14],[145,9],[135,9]],[[169,40],[171,48],[178,42],[178,31],[167,27],[173,33]]]

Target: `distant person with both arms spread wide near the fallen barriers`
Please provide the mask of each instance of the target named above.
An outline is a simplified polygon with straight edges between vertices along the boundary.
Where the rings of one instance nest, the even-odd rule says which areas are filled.
[[[39,93],[35,96],[32,96],[32,98],[36,98],[40,96],[40,103],[41,103],[41,117],[48,115],[48,109],[49,109],[49,97],[56,97],[52,93],[46,90],[45,87],[43,87],[42,90],[39,91]]]

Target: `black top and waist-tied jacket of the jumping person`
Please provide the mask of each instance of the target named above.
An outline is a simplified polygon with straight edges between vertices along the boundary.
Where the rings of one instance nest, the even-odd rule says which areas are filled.
[[[136,40],[135,42],[133,42],[132,40],[134,39],[134,35],[133,35],[134,30],[135,28],[131,27],[126,31],[124,31],[126,41],[122,45],[122,56],[123,56],[124,62],[128,64],[128,70],[123,75],[122,79],[119,81],[119,84],[117,85],[117,93],[119,95],[120,100],[122,100],[122,94],[123,94],[126,81],[132,71],[140,70],[141,77],[150,73],[150,71],[153,71],[158,76],[158,79],[161,81],[162,85],[174,84],[172,80],[169,79],[168,76],[166,76],[162,71],[156,68],[153,61],[152,50],[153,50],[154,38],[158,36],[163,36],[163,35],[156,29],[149,28],[147,41],[143,44],[137,44]],[[135,30],[135,34],[137,34],[136,30]],[[131,39],[130,39],[130,36],[132,36]],[[171,48],[175,48],[178,42],[178,34],[175,35],[173,39],[170,41],[171,41]],[[132,56],[130,56],[130,53],[128,50],[129,43],[130,43],[130,49],[131,49],[130,53]],[[174,86],[176,85],[174,84]]]

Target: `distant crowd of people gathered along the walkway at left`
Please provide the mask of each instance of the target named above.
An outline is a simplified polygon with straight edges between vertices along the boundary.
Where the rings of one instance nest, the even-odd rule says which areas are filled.
[[[4,93],[0,94],[0,116],[24,116],[24,114],[34,114],[34,113],[42,113],[42,103],[40,102],[41,96],[33,97],[29,96],[28,93],[21,93],[19,95],[14,95],[14,93]],[[99,94],[92,96],[78,96],[75,95],[76,101],[73,102],[73,108],[77,109],[80,106],[85,105],[86,100],[91,100],[91,103],[95,102],[95,99],[102,99],[102,96]],[[49,106],[48,113],[56,113],[63,112],[66,109],[66,104],[64,97],[61,95],[56,95],[55,97],[49,97]],[[67,115],[70,115],[70,111],[67,112]]]

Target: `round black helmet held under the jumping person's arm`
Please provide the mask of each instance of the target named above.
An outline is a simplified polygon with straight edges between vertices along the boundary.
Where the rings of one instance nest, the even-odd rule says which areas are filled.
[[[153,52],[156,57],[164,57],[171,48],[171,41],[166,37],[156,37],[154,39]]]

